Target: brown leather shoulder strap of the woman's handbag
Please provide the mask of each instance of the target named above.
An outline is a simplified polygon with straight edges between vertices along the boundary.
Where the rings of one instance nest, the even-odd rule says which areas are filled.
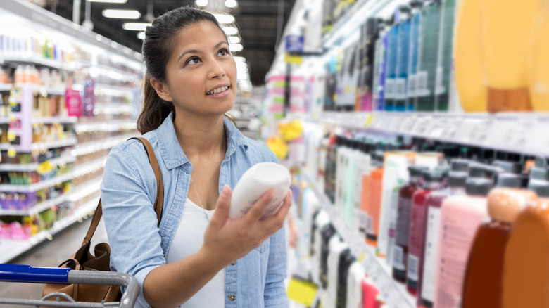
[[[156,226],[160,226],[160,217],[162,217],[162,207],[164,205],[164,182],[162,181],[162,172],[160,172],[158,160],[156,160],[156,155],[154,155],[153,147],[147,139],[144,139],[143,137],[133,137],[130,139],[135,139],[143,143],[147,156],[149,156],[149,162],[151,163],[151,167],[153,168],[154,177],[156,177],[156,198],[154,200],[154,212],[156,212],[156,219],[158,220]],[[97,226],[99,225],[99,221],[101,220],[102,216],[103,209],[101,208],[101,198],[99,198],[99,203],[97,204],[94,217],[92,218],[92,224],[89,225],[88,232],[86,233],[84,241],[82,241],[82,245],[92,241],[92,237],[94,236],[95,230],[97,229]]]

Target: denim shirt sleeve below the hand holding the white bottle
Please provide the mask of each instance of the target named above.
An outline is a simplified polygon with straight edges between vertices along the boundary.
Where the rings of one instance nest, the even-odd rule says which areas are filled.
[[[270,252],[263,293],[265,307],[289,307],[286,295],[286,238],[284,228],[270,237]]]

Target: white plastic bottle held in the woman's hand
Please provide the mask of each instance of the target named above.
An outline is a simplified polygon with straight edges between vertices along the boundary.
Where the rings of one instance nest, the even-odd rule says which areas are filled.
[[[291,184],[290,172],[274,162],[260,162],[246,170],[234,186],[229,218],[243,217],[253,203],[269,189],[274,188],[274,198],[263,212],[262,218],[278,212]]]

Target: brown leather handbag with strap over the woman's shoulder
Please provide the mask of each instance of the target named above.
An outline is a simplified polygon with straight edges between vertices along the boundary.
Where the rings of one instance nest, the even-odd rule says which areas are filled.
[[[130,139],[136,139],[143,143],[146,153],[149,156],[149,162],[153,168],[154,176],[156,177],[156,199],[154,201],[154,210],[156,212],[156,218],[158,225],[160,225],[160,217],[162,215],[162,206],[164,199],[164,187],[162,181],[162,174],[156,155],[154,155],[153,147],[151,143],[144,138],[135,137]],[[128,140],[130,140],[128,139]],[[70,268],[72,270],[79,271],[111,271],[111,247],[108,243],[99,243],[95,245],[93,253],[90,251],[92,248],[92,236],[94,236],[95,230],[101,220],[103,210],[101,209],[101,199],[95,210],[92,224],[90,224],[86,237],[82,242],[80,248],[73,254],[70,259],[61,263],[58,267]],[[46,284],[42,291],[42,297],[51,293],[65,293],[72,297],[76,302],[118,302],[122,293],[120,292],[120,286],[118,285],[86,285],[86,284]],[[51,297],[50,300],[56,300],[55,297]],[[61,298],[61,300],[64,300]]]

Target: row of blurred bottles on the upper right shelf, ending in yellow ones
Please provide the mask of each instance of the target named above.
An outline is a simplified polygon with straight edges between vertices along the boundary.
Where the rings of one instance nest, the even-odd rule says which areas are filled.
[[[541,1],[412,0],[388,19],[365,19],[358,31],[357,41],[324,46],[327,55],[292,70],[305,77],[291,81],[293,103],[347,111],[549,110],[549,8]]]

